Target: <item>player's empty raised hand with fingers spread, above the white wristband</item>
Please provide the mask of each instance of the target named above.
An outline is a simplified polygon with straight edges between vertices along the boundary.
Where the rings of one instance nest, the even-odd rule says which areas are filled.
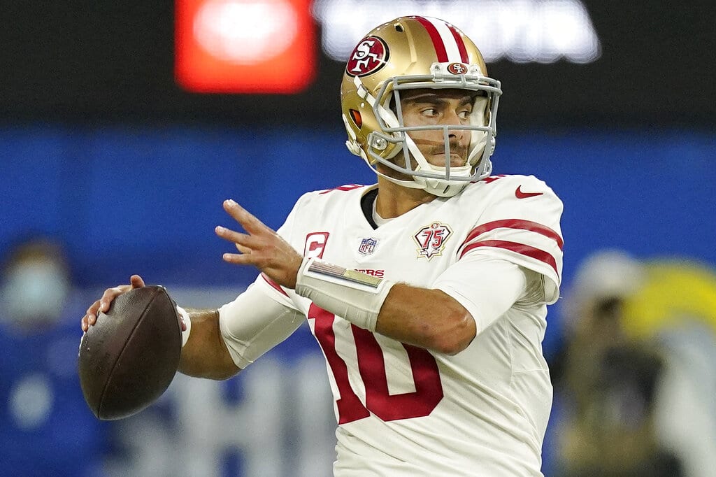
[[[266,276],[286,288],[296,287],[303,257],[278,233],[251,215],[235,201],[223,202],[224,210],[233,217],[246,233],[217,226],[216,235],[230,241],[240,254],[223,254],[224,261],[237,265],[253,265]]]

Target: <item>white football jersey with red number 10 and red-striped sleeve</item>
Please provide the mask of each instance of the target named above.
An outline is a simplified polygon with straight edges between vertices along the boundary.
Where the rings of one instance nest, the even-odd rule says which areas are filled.
[[[374,188],[306,193],[279,233],[306,256],[446,291],[473,314],[478,335],[457,355],[428,352],[266,279],[266,293],[306,315],[326,357],[339,424],[334,473],[540,476],[552,401],[541,342],[561,278],[561,201],[533,176],[494,176],[373,228],[361,198]],[[490,276],[495,264],[532,277],[505,309],[490,300],[502,286]]]

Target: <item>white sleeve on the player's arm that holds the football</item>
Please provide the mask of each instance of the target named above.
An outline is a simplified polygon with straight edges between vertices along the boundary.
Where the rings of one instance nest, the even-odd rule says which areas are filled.
[[[256,283],[219,308],[221,336],[231,359],[242,369],[284,341],[303,321],[304,314],[271,299]]]

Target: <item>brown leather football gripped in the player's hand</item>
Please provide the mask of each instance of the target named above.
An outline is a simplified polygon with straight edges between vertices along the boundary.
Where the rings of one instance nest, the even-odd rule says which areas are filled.
[[[79,343],[84,400],[102,420],[127,418],[169,387],[179,367],[181,324],[163,286],[117,297]]]

